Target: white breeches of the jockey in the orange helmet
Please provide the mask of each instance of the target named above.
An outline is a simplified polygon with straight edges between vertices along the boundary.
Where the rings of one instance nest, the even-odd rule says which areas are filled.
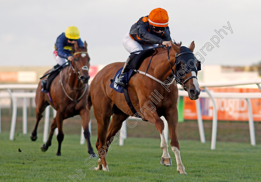
[[[122,44],[125,47],[125,49],[131,53],[134,51],[140,51],[140,50],[144,50],[144,49],[149,49],[152,47],[157,47],[158,44],[149,44],[149,45],[144,45],[144,44],[140,44],[139,42],[133,40],[130,37],[130,34],[127,33],[122,40]],[[140,52],[137,52],[136,54],[139,54]]]

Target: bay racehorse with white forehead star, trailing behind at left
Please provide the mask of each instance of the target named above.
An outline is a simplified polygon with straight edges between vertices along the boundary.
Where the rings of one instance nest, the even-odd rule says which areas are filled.
[[[75,53],[73,60],[69,61],[69,65],[63,68],[59,75],[54,78],[50,85],[49,93],[41,92],[42,85],[39,82],[36,90],[36,124],[31,135],[31,140],[37,139],[37,127],[40,119],[43,117],[42,113],[48,105],[51,105],[56,111],[56,117],[53,119],[51,131],[46,144],[41,146],[42,151],[46,151],[51,146],[51,140],[55,128],[58,128],[58,151],[56,155],[61,155],[61,144],[64,138],[62,124],[63,120],[76,115],[80,115],[82,119],[82,126],[84,128],[84,136],[88,145],[88,152],[95,156],[93,148],[90,143],[89,121],[90,111],[86,109],[86,96],[89,92],[89,55],[87,52],[87,43],[84,42],[84,47],[78,47],[77,42],[74,44]],[[50,71],[50,70],[49,70]],[[46,73],[49,73],[46,72]],[[45,73],[45,74],[46,74]]]

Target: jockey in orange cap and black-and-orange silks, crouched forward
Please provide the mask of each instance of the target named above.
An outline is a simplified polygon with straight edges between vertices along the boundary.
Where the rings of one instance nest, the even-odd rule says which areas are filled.
[[[129,53],[153,48],[158,46],[158,44],[171,47],[168,20],[169,18],[166,10],[162,8],[153,9],[149,13],[149,16],[141,17],[139,21],[131,26],[130,33],[127,33],[123,38],[123,46]],[[123,77],[128,71],[128,65],[132,60],[135,60],[132,62],[135,62],[134,65],[136,69],[138,69],[141,61],[145,59],[147,54],[146,51],[131,54],[122,69],[117,84],[126,87]]]

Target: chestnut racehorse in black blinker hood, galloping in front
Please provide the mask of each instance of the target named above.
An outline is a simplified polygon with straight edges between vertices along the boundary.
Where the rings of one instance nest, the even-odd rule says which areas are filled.
[[[176,156],[177,171],[181,174],[186,174],[186,172],[181,162],[180,146],[177,139],[178,88],[173,78],[176,75],[176,80],[188,92],[191,100],[199,98],[200,87],[196,76],[200,63],[192,53],[194,48],[194,41],[190,44],[189,48],[181,47],[181,43],[177,44],[177,46],[172,43],[172,48],[170,48],[168,54],[169,59],[167,59],[168,49],[166,50],[166,47],[155,49],[156,55],[154,55],[147,71],[148,76],[145,76],[141,72],[146,71],[152,56],[144,59],[139,68],[141,74],[136,73],[130,79],[127,87],[131,103],[135,110],[139,112],[143,120],[148,120],[155,124],[159,131],[161,137],[160,147],[163,150],[161,164],[170,166],[172,162],[167,150],[168,144],[164,138],[164,122],[160,117],[164,116],[166,118],[171,138],[171,148]],[[190,67],[188,67],[188,64]],[[134,116],[126,103],[124,94],[116,92],[110,87],[110,79],[114,78],[115,73],[123,65],[124,63],[122,62],[112,63],[99,71],[90,85],[90,92],[87,96],[87,108],[90,109],[93,105],[94,115],[98,124],[96,148],[100,160],[98,167],[95,168],[96,170],[103,169],[104,171],[108,171],[106,154],[109,145],[113,141],[114,135],[120,131],[122,122],[129,116]],[[158,100],[155,97],[152,100],[152,93],[157,95]],[[112,120],[110,122],[111,115]]]

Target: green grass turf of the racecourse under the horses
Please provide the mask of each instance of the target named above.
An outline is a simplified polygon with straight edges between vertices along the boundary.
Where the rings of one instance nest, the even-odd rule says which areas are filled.
[[[86,174],[79,175],[81,181],[261,181],[260,144],[253,147],[248,143],[217,142],[212,151],[210,142],[181,140],[181,160],[187,172],[181,175],[170,147],[172,166],[160,164],[160,139],[127,138],[124,146],[111,145],[107,172],[89,170],[92,165],[85,165],[89,154],[86,143],[80,145],[80,135],[65,135],[62,156],[55,155],[55,136],[48,151],[41,152],[42,137],[39,133],[38,140],[32,142],[29,134],[16,134],[10,141],[8,132],[0,133],[0,181],[68,181],[69,175],[79,175],[76,169]],[[96,139],[91,138],[94,147]]]

